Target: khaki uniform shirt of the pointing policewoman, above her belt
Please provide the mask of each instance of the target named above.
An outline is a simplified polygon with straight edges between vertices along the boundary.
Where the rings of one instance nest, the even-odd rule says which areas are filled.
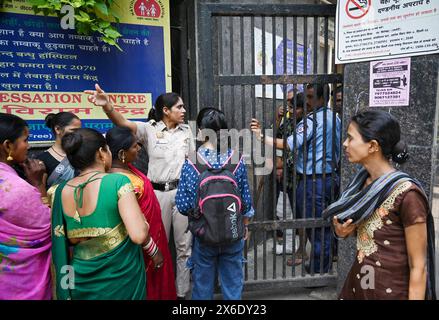
[[[137,139],[149,156],[148,178],[151,182],[165,183],[180,179],[181,169],[189,152],[195,150],[192,130],[187,124],[179,124],[168,130],[163,121],[134,122]]]

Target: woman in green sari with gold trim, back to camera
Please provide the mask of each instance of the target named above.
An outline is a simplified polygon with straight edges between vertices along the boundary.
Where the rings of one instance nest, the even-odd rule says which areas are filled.
[[[62,147],[80,174],[61,183],[53,199],[55,297],[144,300],[141,245],[151,255],[154,250],[130,180],[106,174],[111,151],[95,130],[66,135]]]

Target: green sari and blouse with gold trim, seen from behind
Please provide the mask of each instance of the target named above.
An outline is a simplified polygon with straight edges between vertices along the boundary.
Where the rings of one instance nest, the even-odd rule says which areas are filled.
[[[52,206],[52,262],[58,300],[145,300],[142,248],[128,237],[118,200],[133,187],[120,174],[102,178],[95,211],[67,216],[58,186]],[[90,238],[71,246],[69,239]],[[67,267],[65,267],[67,266]]]

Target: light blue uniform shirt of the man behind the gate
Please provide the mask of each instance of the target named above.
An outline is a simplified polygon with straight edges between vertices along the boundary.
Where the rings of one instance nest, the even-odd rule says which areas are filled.
[[[325,110],[326,109],[326,119],[325,119]],[[299,122],[296,128],[296,146],[294,145],[294,134],[288,137],[287,143],[290,150],[297,150],[297,164],[296,170],[299,173],[304,173],[303,169],[303,144],[306,143],[307,146],[307,161],[306,161],[306,175],[313,174],[313,131],[314,125],[316,125],[315,129],[315,140],[316,140],[316,150],[315,150],[315,163],[316,163],[316,174],[323,174],[323,137],[326,136],[326,157],[325,157],[325,171],[326,173],[332,172],[332,162],[334,169],[338,166],[338,162],[340,160],[340,131],[341,131],[341,121],[340,118],[336,115],[335,117],[335,158],[332,155],[333,145],[332,145],[332,137],[333,137],[333,112],[332,110],[321,107],[315,112],[315,120],[313,121],[313,114],[309,114],[302,121]],[[306,121],[306,123],[305,123]],[[326,121],[326,134],[323,128],[323,124]],[[306,125],[306,137],[305,137],[305,128]],[[297,148],[297,149],[295,149]]]

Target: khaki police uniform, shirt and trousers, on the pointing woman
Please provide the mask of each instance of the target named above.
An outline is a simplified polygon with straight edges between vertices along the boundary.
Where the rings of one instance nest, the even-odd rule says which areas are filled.
[[[192,130],[186,124],[168,129],[163,121],[134,122],[137,138],[149,156],[148,178],[162,210],[162,220],[169,242],[171,225],[177,252],[177,296],[184,297],[189,291],[190,271],[186,261],[191,254],[191,233],[186,232],[187,217],[180,214],[175,205],[181,169],[189,152],[195,150]]]

